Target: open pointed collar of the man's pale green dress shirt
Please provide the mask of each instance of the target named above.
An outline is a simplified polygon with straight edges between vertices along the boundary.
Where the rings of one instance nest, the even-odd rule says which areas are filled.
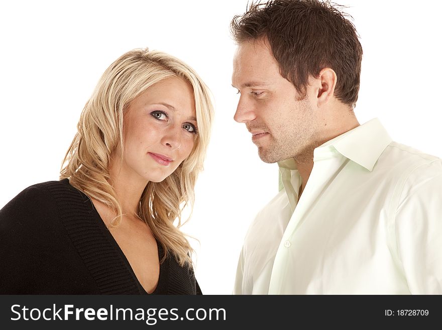
[[[325,142],[314,150],[314,159],[335,149],[344,157],[372,171],[385,148],[392,142],[381,122],[375,118],[340,136]],[[278,162],[280,168],[296,170],[295,161],[290,158]]]

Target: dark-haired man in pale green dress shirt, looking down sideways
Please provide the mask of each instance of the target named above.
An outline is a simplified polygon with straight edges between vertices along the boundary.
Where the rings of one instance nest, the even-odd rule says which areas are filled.
[[[258,213],[236,294],[442,293],[442,161],[360,125],[355,27],[316,0],[232,21],[235,120],[283,188]]]

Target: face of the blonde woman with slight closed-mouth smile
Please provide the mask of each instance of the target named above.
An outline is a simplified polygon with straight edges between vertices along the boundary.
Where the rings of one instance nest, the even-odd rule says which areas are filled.
[[[164,180],[189,156],[196,135],[192,86],[175,77],[152,85],[130,103],[124,115],[120,178]]]

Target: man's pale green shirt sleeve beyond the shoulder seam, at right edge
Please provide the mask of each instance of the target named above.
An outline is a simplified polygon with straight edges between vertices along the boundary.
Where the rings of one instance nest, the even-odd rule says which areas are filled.
[[[395,217],[398,256],[412,294],[442,294],[442,164],[407,178]]]

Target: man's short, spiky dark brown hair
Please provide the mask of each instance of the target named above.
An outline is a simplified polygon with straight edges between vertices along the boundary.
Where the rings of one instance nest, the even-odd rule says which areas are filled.
[[[317,0],[272,0],[248,7],[231,23],[237,43],[267,38],[281,75],[302,97],[310,75],[317,77],[321,69],[332,68],[338,76],[335,96],[355,105],[362,47],[350,16]]]

